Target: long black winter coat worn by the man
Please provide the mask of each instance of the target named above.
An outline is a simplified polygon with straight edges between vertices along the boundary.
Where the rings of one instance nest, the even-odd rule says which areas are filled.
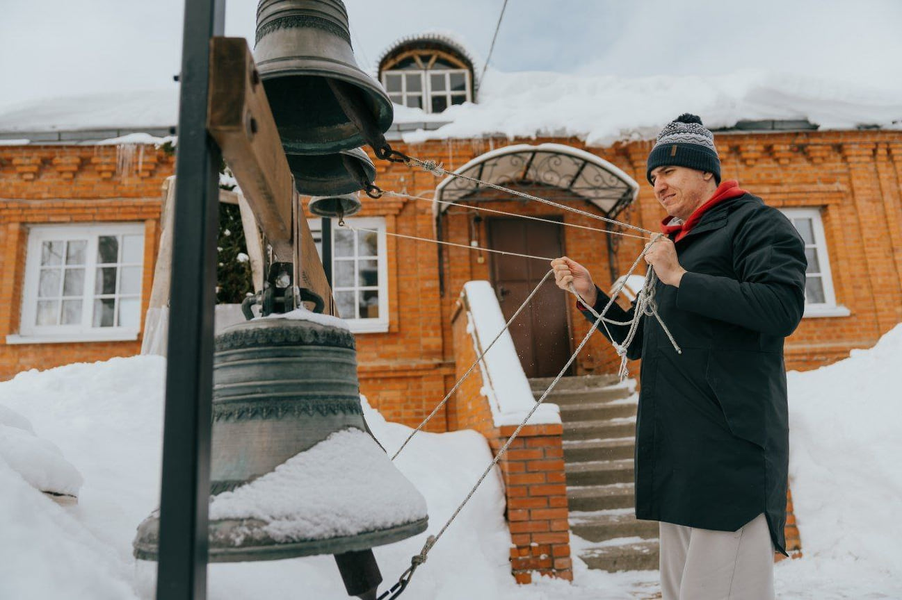
[[[676,254],[688,272],[678,288],[658,281],[655,297],[682,354],[654,317],[628,349],[642,359],[636,516],[735,531],[764,513],[786,553],[783,340],[805,308],[805,245],[783,214],[746,194],[705,212]],[[607,301],[599,292],[594,309]],[[614,304],[607,316],[625,321],[634,309]],[[609,328],[623,340],[626,327]]]

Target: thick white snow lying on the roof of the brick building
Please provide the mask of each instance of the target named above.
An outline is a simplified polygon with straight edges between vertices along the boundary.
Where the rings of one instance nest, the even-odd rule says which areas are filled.
[[[394,128],[433,123],[433,131],[402,133],[404,141],[483,136],[574,136],[590,146],[653,139],[677,114],[699,114],[706,126],[740,121],[807,120],[821,129],[862,125],[902,129],[902,84],[870,88],[840,80],[745,70],[710,77],[612,77],[489,69],[479,103],[441,114],[395,106]],[[0,108],[0,137],[28,132],[120,130],[141,132],[175,125],[177,90],[58,97]],[[95,139],[121,135],[102,135]],[[33,139],[33,138],[32,138]]]

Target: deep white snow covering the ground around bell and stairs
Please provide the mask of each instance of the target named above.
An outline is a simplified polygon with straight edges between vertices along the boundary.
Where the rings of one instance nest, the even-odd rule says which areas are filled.
[[[805,558],[777,566],[783,599],[902,598],[902,326],[877,347],[808,373],[791,373],[792,489]],[[162,384],[158,357],[113,359],[0,383],[0,436],[27,430],[56,444],[84,483],[78,505],[41,495],[0,458],[0,598],[132,600],[152,597],[152,563],[135,564],[135,527],[158,502]],[[410,429],[368,411],[390,452]],[[17,419],[17,420],[16,420]],[[18,434],[16,434],[18,435]],[[0,457],[3,455],[0,454]],[[490,459],[474,432],[422,433],[397,464],[425,495],[436,532]],[[22,470],[21,461],[17,467]],[[649,598],[657,573],[608,574],[575,560],[575,582],[516,586],[498,477],[429,554],[404,597],[434,600]],[[425,535],[425,534],[424,534]],[[410,564],[424,535],[375,550],[386,582]],[[578,550],[581,541],[573,541]],[[331,557],[212,565],[208,597],[346,598]],[[302,591],[299,591],[302,590]]]

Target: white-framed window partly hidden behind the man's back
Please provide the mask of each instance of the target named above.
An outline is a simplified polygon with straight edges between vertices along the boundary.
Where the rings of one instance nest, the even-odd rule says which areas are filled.
[[[821,211],[817,208],[786,208],[782,213],[796,227],[805,241],[805,316],[845,316],[849,309],[836,305],[833,295],[833,277],[830,275],[830,259],[824,236]]]

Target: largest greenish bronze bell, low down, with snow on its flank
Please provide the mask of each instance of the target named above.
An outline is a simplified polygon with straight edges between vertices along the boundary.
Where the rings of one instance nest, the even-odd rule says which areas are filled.
[[[364,421],[354,335],[296,310],[216,336],[209,560],[334,554],[349,595],[374,598],[373,546],[426,530],[426,501]],[[156,560],[159,512],[138,526]]]

